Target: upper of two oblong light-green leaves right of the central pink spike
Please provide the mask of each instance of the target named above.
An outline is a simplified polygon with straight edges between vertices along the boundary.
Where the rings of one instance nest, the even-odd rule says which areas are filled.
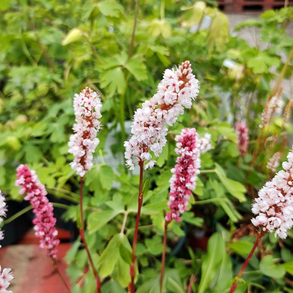
[[[227,178],[224,172],[224,169],[217,163],[215,163],[215,165],[216,165],[215,172],[218,175],[219,179],[221,180],[222,184],[229,191],[229,193],[233,195],[234,197],[236,197],[240,202],[246,201],[245,186],[235,180]]]

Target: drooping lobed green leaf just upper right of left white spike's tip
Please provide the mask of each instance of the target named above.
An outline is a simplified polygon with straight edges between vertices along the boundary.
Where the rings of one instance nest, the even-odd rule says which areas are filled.
[[[100,74],[100,86],[106,88],[110,97],[114,96],[115,92],[123,94],[126,88],[124,74],[120,67],[105,70]]]

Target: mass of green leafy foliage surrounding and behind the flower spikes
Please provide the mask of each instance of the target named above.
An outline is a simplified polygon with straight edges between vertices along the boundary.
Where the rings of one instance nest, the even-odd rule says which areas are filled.
[[[76,221],[78,184],[69,166],[73,157],[67,154],[74,123],[72,96],[85,86],[101,95],[103,133],[96,149],[98,163],[84,180],[84,215],[91,255],[100,277],[106,278],[102,292],[125,292],[130,281],[124,272],[131,259],[139,182],[135,172],[104,162],[109,152],[104,148],[106,137],[114,130],[111,151],[122,163],[121,141],[128,135],[124,121],[156,92],[166,67],[190,60],[201,91],[193,107],[170,128],[158,167],[148,172],[151,177],[144,183],[137,292],[159,290],[163,210],[176,159],[173,140],[185,127],[195,127],[200,135],[210,133],[213,149],[201,156],[202,171],[189,212],[181,223],[168,225],[163,290],[229,290],[255,240],[251,199],[271,175],[268,160],[291,133],[286,115],[274,115],[261,132],[259,124],[268,97],[274,96],[282,79],[292,76],[293,40],[286,32],[292,8],[266,11],[237,27],[257,28],[257,47],[231,36],[227,17],[200,1],[140,1],[136,6],[134,1],[15,0],[1,1],[0,10],[0,186],[8,198],[22,200],[14,187],[15,168],[18,162],[28,163],[48,192],[72,202],[64,219]],[[209,27],[204,19],[211,20]],[[291,98],[282,96],[285,105]],[[243,158],[235,132],[242,120],[250,139]],[[206,252],[190,248],[198,231],[211,235]],[[292,231],[285,241],[264,236],[237,292],[248,287],[252,292],[290,292],[292,237]],[[92,292],[95,280],[90,272],[84,276],[88,264],[79,238],[66,260],[72,291],[80,292],[82,285],[83,291]]]

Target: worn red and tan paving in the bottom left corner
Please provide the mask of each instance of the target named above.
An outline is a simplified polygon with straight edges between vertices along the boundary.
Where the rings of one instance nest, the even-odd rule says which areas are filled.
[[[66,233],[60,230],[60,238],[68,240]],[[57,255],[58,268],[67,284],[70,282],[65,272],[66,263],[63,258],[70,247],[71,243],[60,243]],[[0,249],[0,264],[2,268],[13,270],[15,279],[9,286],[13,293],[67,293],[64,284],[54,271],[52,260],[47,257],[45,249],[38,247],[38,239],[31,231],[19,244]]]

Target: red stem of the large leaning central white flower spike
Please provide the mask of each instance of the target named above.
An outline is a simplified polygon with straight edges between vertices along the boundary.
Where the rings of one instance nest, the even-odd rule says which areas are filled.
[[[143,179],[143,171],[144,171],[144,162],[140,161],[139,163],[140,172],[139,172],[139,191],[138,191],[138,208],[137,208],[137,215],[135,220],[135,228],[134,228],[134,236],[133,236],[133,243],[132,243],[132,265],[130,265],[130,277],[131,283],[128,285],[130,289],[130,293],[135,292],[134,288],[134,267],[135,267],[135,252],[136,252],[136,243],[137,243],[137,232],[138,232],[138,224],[140,218],[140,210],[142,208],[142,179]]]

